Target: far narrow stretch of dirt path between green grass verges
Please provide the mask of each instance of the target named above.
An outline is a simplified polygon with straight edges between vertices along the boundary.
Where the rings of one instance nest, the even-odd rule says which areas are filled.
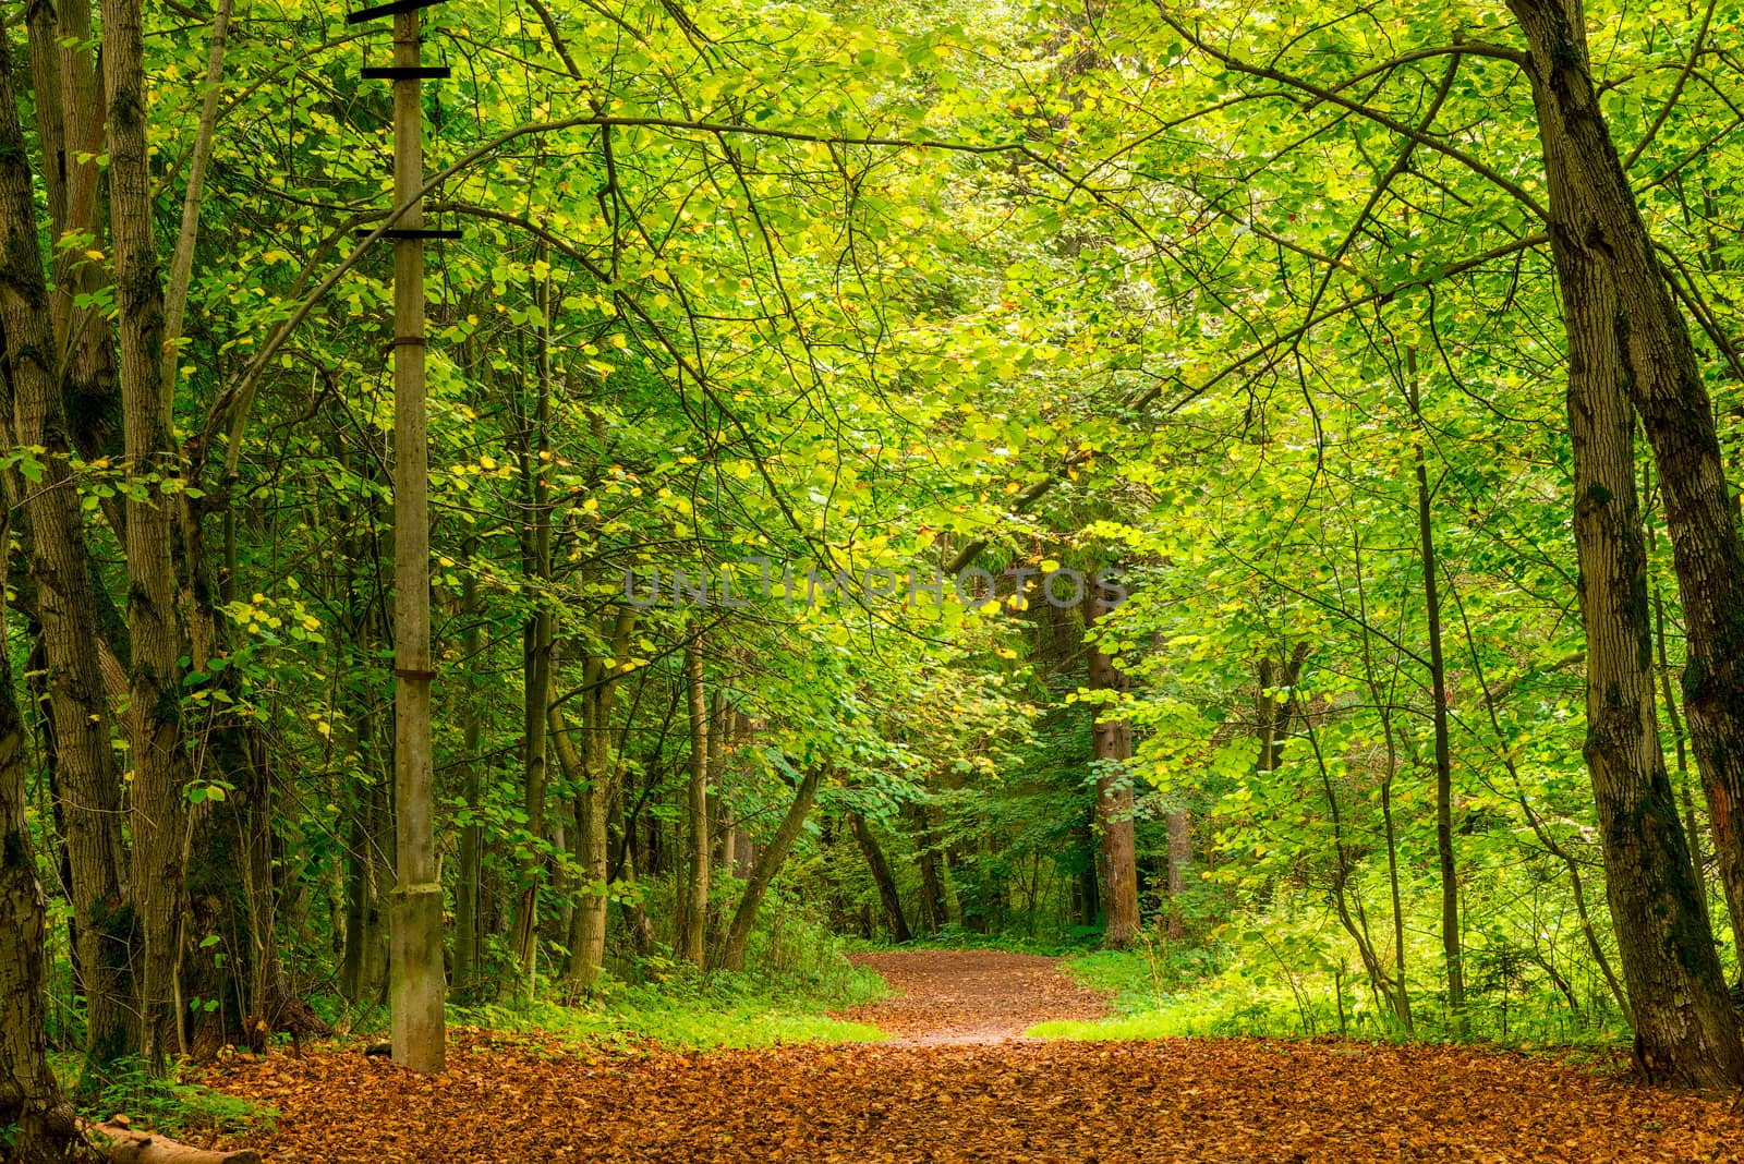
[[[963,1047],[1024,1039],[1036,1023],[1092,1019],[1100,995],[1074,985],[1059,958],[1003,950],[893,950],[855,955],[877,971],[891,997],[856,1011],[896,1047]]]

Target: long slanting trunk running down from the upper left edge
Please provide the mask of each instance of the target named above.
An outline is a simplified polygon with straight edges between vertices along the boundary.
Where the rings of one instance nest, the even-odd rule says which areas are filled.
[[[133,955],[136,918],[122,883],[120,774],[110,749],[96,582],[78,490],[66,464],[73,446],[58,382],[30,155],[12,75],[10,51],[0,45],[0,233],[5,246],[0,324],[9,364],[7,423],[12,443],[47,450],[40,479],[30,481],[24,497],[12,500],[23,502],[30,524],[49,718],[65,793],[87,1051],[94,1061],[106,1063],[136,1046],[124,969]]]

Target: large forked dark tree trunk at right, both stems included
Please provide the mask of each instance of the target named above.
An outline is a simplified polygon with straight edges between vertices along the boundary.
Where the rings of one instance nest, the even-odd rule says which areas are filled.
[[[1638,1059],[1655,1079],[1739,1086],[1744,1046],[1659,739],[1634,481],[1636,408],[1660,467],[1690,627],[1686,711],[1709,795],[1721,795],[1716,817],[1744,793],[1744,699],[1737,697],[1744,681],[1744,622],[1737,620],[1744,549],[1725,498],[1695,352],[1587,71],[1580,5],[1510,0],[1509,7],[1531,49],[1528,73],[1550,188],[1587,626],[1585,755]]]

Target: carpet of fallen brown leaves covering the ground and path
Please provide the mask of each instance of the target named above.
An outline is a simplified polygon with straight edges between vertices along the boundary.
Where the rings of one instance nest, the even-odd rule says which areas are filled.
[[[211,1082],[279,1108],[270,1133],[228,1145],[258,1147],[276,1164],[1584,1162],[1744,1152],[1744,1119],[1723,1101],[1549,1059],[1254,1039],[994,1042],[1095,1007],[1045,964],[1005,958],[1015,955],[875,955],[907,993],[860,1018],[888,1021],[898,1044],[607,1054],[460,1032],[441,1077],[349,1046],[302,1061],[234,1061]]]

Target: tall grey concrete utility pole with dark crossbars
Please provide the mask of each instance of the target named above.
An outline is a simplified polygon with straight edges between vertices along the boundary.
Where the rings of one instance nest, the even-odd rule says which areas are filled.
[[[394,892],[391,991],[394,1061],[439,1072],[446,1058],[441,882],[436,871],[434,763],[431,758],[431,547],[429,439],[424,404],[424,78],[446,68],[419,64],[419,9],[396,0],[352,12],[352,24],[391,16],[394,64],[366,78],[394,82],[394,206],[410,209],[394,240]]]

